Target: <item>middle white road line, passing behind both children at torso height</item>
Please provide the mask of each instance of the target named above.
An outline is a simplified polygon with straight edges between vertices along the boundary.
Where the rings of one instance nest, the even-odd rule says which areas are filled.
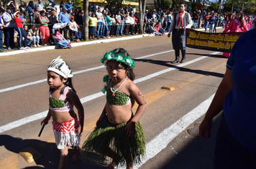
[[[214,52],[214,53],[212,53],[212,54],[209,54],[208,56],[211,56],[211,55],[214,55],[214,54],[218,54],[218,53],[219,53],[219,52]],[[151,79],[152,77],[157,77],[157,76],[159,76],[160,74],[164,74],[164,73],[170,72],[170,71],[172,71],[172,70],[174,70],[174,69],[178,69],[178,68],[180,68],[180,67],[184,67],[184,66],[186,66],[186,65],[188,65],[188,64],[192,64],[192,63],[194,63],[194,62],[198,62],[199,60],[204,59],[204,58],[206,58],[206,56],[204,56],[204,57],[198,57],[197,59],[193,59],[193,60],[191,60],[191,61],[189,61],[189,62],[185,62],[185,63],[183,63],[183,64],[179,64],[179,65],[176,66],[176,67],[171,67],[171,68],[168,68],[168,69],[161,70],[161,71],[159,71],[159,72],[155,72],[155,73],[153,73],[153,74],[149,74],[149,75],[147,75],[147,76],[145,76],[145,77],[142,77],[142,78],[140,78],[140,79],[134,80],[134,83],[143,82],[143,81],[145,81],[145,80],[147,80],[147,79]],[[103,96],[103,95],[104,95],[104,94],[103,94],[102,92],[98,92],[98,93],[96,93],[96,94],[89,95],[89,96],[87,96],[87,97],[81,98],[81,102],[82,102],[82,104],[83,104],[83,103],[85,103],[85,102],[88,102],[88,101],[94,100],[94,99],[96,99],[96,98],[99,98],[99,97],[101,97],[101,96]],[[29,122],[33,122],[33,121],[35,121],[35,120],[40,120],[42,117],[45,117],[46,115],[47,115],[47,110],[44,111],[44,112],[37,113],[36,115],[31,115],[31,116],[29,116],[29,117],[24,117],[24,118],[22,118],[22,119],[20,119],[20,120],[14,121],[14,122],[10,122],[10,123],[8,123],[8,124],[3,125],[3,126],[0,127],[0,133],[1,133],[1,132],[5,132],[5,131],[7,131],[7,130],[11,130],[11,129],[15,128],[15,127],[19,127],[19,126],[21,126],[21,125],[25,125],[25,124],[27,124],[27,123],[29,123]]]

